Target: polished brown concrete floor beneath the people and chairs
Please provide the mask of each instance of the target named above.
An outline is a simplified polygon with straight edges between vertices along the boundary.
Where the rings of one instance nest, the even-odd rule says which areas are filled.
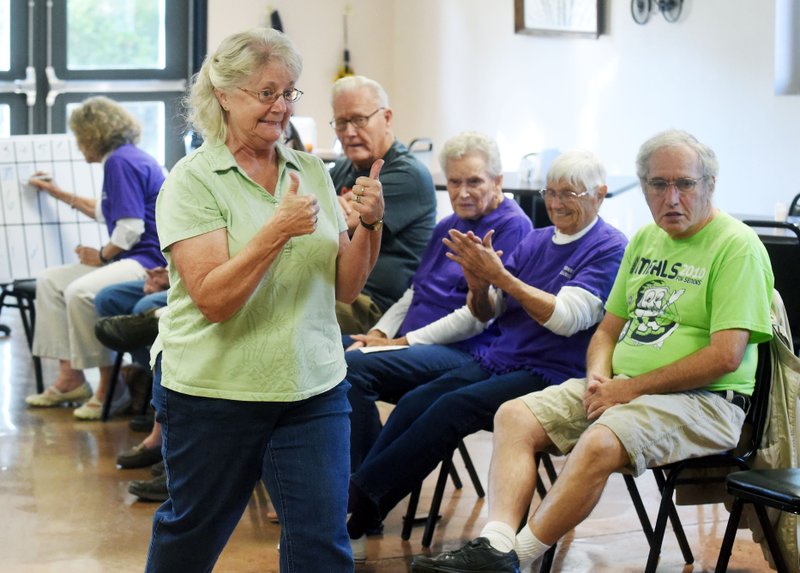
[[[0,572],[142,571],[156,505],[137,501],[127,483],[147,479],[149,473],[117,469],[114,460],[143,434],[132,433],[125,418],[79,422],[69,408],[27,409],[24,397],[34,390],[33,370],[16,310],[3,309],[0,323],[12,328],[10,337],[0,337]],[[45,367],[52,379],[55,365]],[[467,444],[485,483],[491,436],[470,436]],[[420,508],[427,507],[432,482],[426,482]],[[651,476],[639,483],[645,502],[654,507]],[[404,509],[405,502],[390,514],[384,535],[370,538],[368,561],[357,572],[408,571],[413,556],[427,552],[420,544],[421,528],[409,541],[400,539]],[[256,492],[215,572],[278,571],[279,526],[270,521],[269,510],[266,497]],[[468,483],[460,491],[448,485],[430,551],[458,547],[477,535],[486,510],[486,501]],[[659,572],[713,571],[727,512],[712,505],[681,508],[680,514],[695,563],[683,563],[667,532]],[[614,476],[594,513],[559,545],[553,571],[642,571],[646,554],[627,491]],[[749,532],[739,533],[728,570],[770,571]]]

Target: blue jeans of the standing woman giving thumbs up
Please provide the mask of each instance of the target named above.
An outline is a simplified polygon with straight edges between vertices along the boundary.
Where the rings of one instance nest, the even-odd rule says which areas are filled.
[[[281,524],[280,570],[353,571],[345,527],[349,385],[299,402],[200,398],[161,386],[169,499],[156,510],[147,573],[211,571],[264,481]]]

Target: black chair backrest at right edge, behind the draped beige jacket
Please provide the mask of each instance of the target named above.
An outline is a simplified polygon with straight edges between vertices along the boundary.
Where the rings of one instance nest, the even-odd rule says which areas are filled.
[[[758,232],[767,249],[775,276],[775,290],[784,295],[786,316],[797,347],[800,338],[800,297],[794,296],[794,293],[800,284],[800,228],[792,223],[773,221],[745,220],[744,223]],[[779,234],[776,230],[779,230]]]

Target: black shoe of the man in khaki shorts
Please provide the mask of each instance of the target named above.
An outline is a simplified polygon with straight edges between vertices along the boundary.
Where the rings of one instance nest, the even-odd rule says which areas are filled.
[[[436,557],[416,557],[411,563],[413,573],[519,573],[519,559],[512,549],[502,553],[489,545],[485,537],[478,537],[461,549],[448,551]]]

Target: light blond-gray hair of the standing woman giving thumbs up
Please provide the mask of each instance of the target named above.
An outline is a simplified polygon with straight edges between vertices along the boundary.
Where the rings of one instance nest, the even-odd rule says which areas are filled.
[[[204,139],[225,141],[228,127],[215,89],[232,90],[261,68],[277,62],[295,80],[303,71],[303,58],[289,38],[272,28],[252,28],[222,40],[216,52],[208,54],[192,78],[185,105],[187,120]]]

